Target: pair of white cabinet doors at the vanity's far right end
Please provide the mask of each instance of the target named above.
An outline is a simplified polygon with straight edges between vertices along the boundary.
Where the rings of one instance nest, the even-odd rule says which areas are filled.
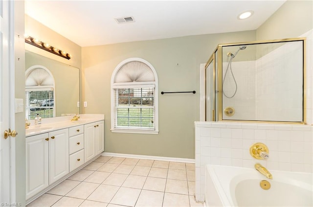
[[[85,124],[85,162],[104,151],[104,121]]]

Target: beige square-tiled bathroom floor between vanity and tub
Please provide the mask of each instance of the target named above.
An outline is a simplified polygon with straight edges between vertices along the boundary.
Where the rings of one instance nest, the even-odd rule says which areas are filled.
[[[101,156],[27,207],[203,207],[194,195],[192,163]]]

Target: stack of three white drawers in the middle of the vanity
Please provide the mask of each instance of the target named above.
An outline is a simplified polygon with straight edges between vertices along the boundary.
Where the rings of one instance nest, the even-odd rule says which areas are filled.
[[[84,125],[79,125],[69,128],[69,172],[84,163]]]

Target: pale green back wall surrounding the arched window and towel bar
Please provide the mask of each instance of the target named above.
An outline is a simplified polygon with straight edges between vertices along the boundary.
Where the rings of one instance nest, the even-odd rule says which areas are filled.
[[[82,48],[86,114],[105,114],[105,152],[194,159],[194,121],[200,117],[200,64],[220,43],[254,41],[255,31],[196,35]],[[110,82],[127,58],[147,60],[158,76],[159,134],[112,133]],[[196,91],[163,94],[161,91]]]

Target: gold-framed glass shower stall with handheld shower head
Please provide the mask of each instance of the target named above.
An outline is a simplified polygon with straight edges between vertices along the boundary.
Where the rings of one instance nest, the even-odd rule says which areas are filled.
[[[218,45],[205,65],[205,120],[305,124],[305,44]]]

